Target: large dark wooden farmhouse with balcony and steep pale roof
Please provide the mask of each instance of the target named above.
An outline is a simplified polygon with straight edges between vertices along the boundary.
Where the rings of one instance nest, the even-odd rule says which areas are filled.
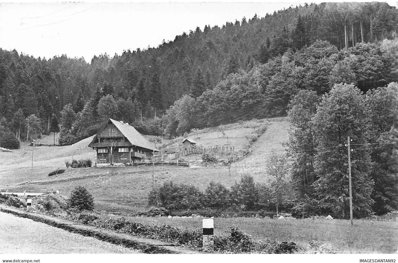
[[[97,164],[126,164],[151,159],[158,152],[133,126],[108,119],[89,147],[97,151]]]

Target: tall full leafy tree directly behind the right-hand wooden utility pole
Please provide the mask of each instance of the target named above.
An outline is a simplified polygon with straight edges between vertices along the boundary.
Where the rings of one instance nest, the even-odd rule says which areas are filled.
[[[353,85],[337,84],[322,97],[313,118],[317,143],[315,183],[318,197],[328,203],[341,218],[349,215],[348,154],[344,143],[353,140],[351,174],[353,213],[356,217],[371,214],[374,182],[370,177],[371,158],[367,149],[369,116],[361,91]]]

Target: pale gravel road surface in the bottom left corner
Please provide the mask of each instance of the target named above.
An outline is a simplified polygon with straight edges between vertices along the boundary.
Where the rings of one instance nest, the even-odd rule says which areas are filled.
[[[70,233],[60,228],[0,212],[0,253],[3,254],[70,254],[123,253],[137,254],[137,249]]]

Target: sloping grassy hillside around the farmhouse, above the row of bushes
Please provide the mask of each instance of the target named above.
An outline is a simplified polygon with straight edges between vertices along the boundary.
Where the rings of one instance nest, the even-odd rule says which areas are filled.
[[[94,158],[95,151],[88,148],[90,138],[86,138],[70,146],[40,146],[35,149],[33,176],[31,176],[31,149],[27,144],[8,154],[9,160],[0,164],[0,187],[2,191],[23,192],[41,191],[48,189],[59,190],[62,195],[68,196],[74,187],[82,185],[93,193],[96,200],[96,209],[108,212],[130,213],[147,209],[148,193],[152,189],[152,176],[155,186],[161,186],[166,181],[174,181],[206,189],[210,181],[220,182],[231,187],[244,174],[254,176],[259,183],[267,182],[264,173],[266,160],[271,150],[283,153],[282,143],[287,140],[289,121],[286,118],[258,120],[258,124],[267,125],[267,130],[252,144],[252,154],[246,160],[228,166],[181,167],[181,166],[127,166],[127,167],[97,167],[97,168],[68,168],[60,175],[47,176],[49,171],[64,167],[65,160]],[[228,141],[238,147],[248,143],[247,135],[253,129],[247,130],[246,123],[236,123],[229,126],[219,126],[211,130],[201,131],[196,136],[201,137],[202,143],[224,142],[223,132],[230,136]],[[236,136],[236,132],[240,132]],[[218,133],[218,135],[217,135]],[[241,138],[246,134],[245,138]],[[191,134],[195,140],[197,139]],[[238,137],[238,138],[237,138]],[[245,140],[243,140],[245,139]],[[220,141],[221,140],[221,141]],[[164,142],[165,143],[165,142]],[[168,142],[170,143],[170,142]],[[174,142],[175,143],[175,142]],[[206,144],[205,144],[206,145]],[[167,148],[167,146],[165,147]],[[169,149],[171,150],[171,149]],[[25,154],[25,158],[20,158]],[[194,155],[197,156],[197,155]],[[201,156],[197,156],[201,158]],[[185,158],[185,156],[184,156]],[[246,168],[245,168],[246,162]]]

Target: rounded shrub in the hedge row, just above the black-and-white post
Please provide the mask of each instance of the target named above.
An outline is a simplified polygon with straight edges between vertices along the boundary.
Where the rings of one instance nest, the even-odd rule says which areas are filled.
[[[221,183],[211,181],[205,190],[205,205],[211,208],[226,208],[230,205],[230,191]]]

